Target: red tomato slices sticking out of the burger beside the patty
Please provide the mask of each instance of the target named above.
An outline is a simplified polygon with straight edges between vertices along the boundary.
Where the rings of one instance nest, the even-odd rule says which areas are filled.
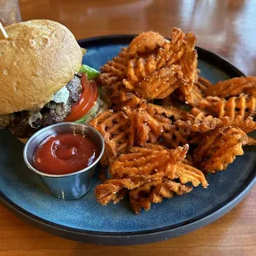
[[[71,108],[71,113],[65,121],[77,121],[83,117],[97,101],[97,84],[93,80],[88,80],[85,73],[81,79],[82,94],[78,103]]]

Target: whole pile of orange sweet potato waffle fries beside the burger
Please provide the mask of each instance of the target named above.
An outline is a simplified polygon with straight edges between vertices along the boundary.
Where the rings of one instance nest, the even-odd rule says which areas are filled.
[[[111,109],[90,124],[103,136],[110,179],[96,187],[102,205],[128,197],[135,213],[175,194],[206,188],[244,145],[256,145],[256,78],[211,84],[199,76],[197,36],[173,28],[135,37],[101,68]],[[185,111],[187,109],[187,111]]]

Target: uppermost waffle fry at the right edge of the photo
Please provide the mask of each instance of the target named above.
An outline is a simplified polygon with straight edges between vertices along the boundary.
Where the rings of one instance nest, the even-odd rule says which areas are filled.
[[[256,78],[231,78],[220,81],[206,90],[206,96],[238,97],[241,93],[256,96]]]

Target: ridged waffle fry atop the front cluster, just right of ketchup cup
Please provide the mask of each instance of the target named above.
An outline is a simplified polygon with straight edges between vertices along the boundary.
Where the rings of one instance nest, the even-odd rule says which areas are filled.
[[[177,164],[185,159],[188,145],[177,149],[154,150],[133,147],[130,153],[121,154],[111,163],[108,172],[112,178],[133,177],[136,175],[150,175],[163,171],[166,164]]]

